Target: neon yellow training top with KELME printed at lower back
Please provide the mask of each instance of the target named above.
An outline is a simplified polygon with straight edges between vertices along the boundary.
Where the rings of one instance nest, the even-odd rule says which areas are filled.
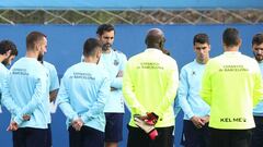
[[[261,73],[255,60],[240,52],[225,52],[209,60],[207,69],[209,70],[206,70],[206,73],[209,74],[204,76],[210,78],[211,86],[209,126],[253,127],[253,102],[262,94],[260,91]]]

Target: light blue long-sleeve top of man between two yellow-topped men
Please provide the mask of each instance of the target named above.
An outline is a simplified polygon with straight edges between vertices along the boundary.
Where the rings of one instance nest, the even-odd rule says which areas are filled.
[[[184,65],[181,70],[178,97],[184,111],[184,120],[190,120],[194,115],[205,117],[209,114],[210,107],[199,96],[204,70],[205,64],[199,64],[196,60]]]

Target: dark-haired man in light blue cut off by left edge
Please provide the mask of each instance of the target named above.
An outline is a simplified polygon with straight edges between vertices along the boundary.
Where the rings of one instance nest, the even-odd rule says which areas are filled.
[[[14,58],[18,56],[16,46],[11,40],[0,41],[0,105],[2,95],[3,77],[8,74],[7,66],[11,64]],[[0,113],[1,113],[0,107]]]

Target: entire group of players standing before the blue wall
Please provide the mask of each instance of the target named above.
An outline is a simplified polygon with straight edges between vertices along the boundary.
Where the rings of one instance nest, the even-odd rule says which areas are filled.
[[[43,60],[46,35],[30,33],[25,57],[10,70],[16,47],[0,42],[1,105],[11,113],[14,147],[52,146],[49,105],[55,100],[67,118],[70,147],[117,147],[124,103],[132,113],[127,147],[172,147],[175,97],[184,112],[183,146],[263,145],[263,34],[252,39],[254,59],[239,52],[236,28],[225,29],[224,53],[213,59],[209,37],[197,34],[196,58],[180,74],[159,28],[148,30],[147,48],[128,61],[112,47],[113,25],[100,25],[96,35],[85,40],[81,61],[67,69],[60,85],[55,66]]]

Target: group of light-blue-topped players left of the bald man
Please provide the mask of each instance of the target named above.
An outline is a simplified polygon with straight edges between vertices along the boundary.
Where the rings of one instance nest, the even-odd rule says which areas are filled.
[[[8,131],[14,147],[52,146],[49,102],[55,99],[67,117],[71,147],[116,147],[123,139],[122,78],[127,59],[112,49],[113,25],[99,26],[96,35],[85,40],[83,61],[67,70],[60,85],[55,66],[43,60],[45,34],[26,36],[26,54],[10,70],[7,65],[18,49],[10,40],[0,42],[1,105],[11,113]]]

